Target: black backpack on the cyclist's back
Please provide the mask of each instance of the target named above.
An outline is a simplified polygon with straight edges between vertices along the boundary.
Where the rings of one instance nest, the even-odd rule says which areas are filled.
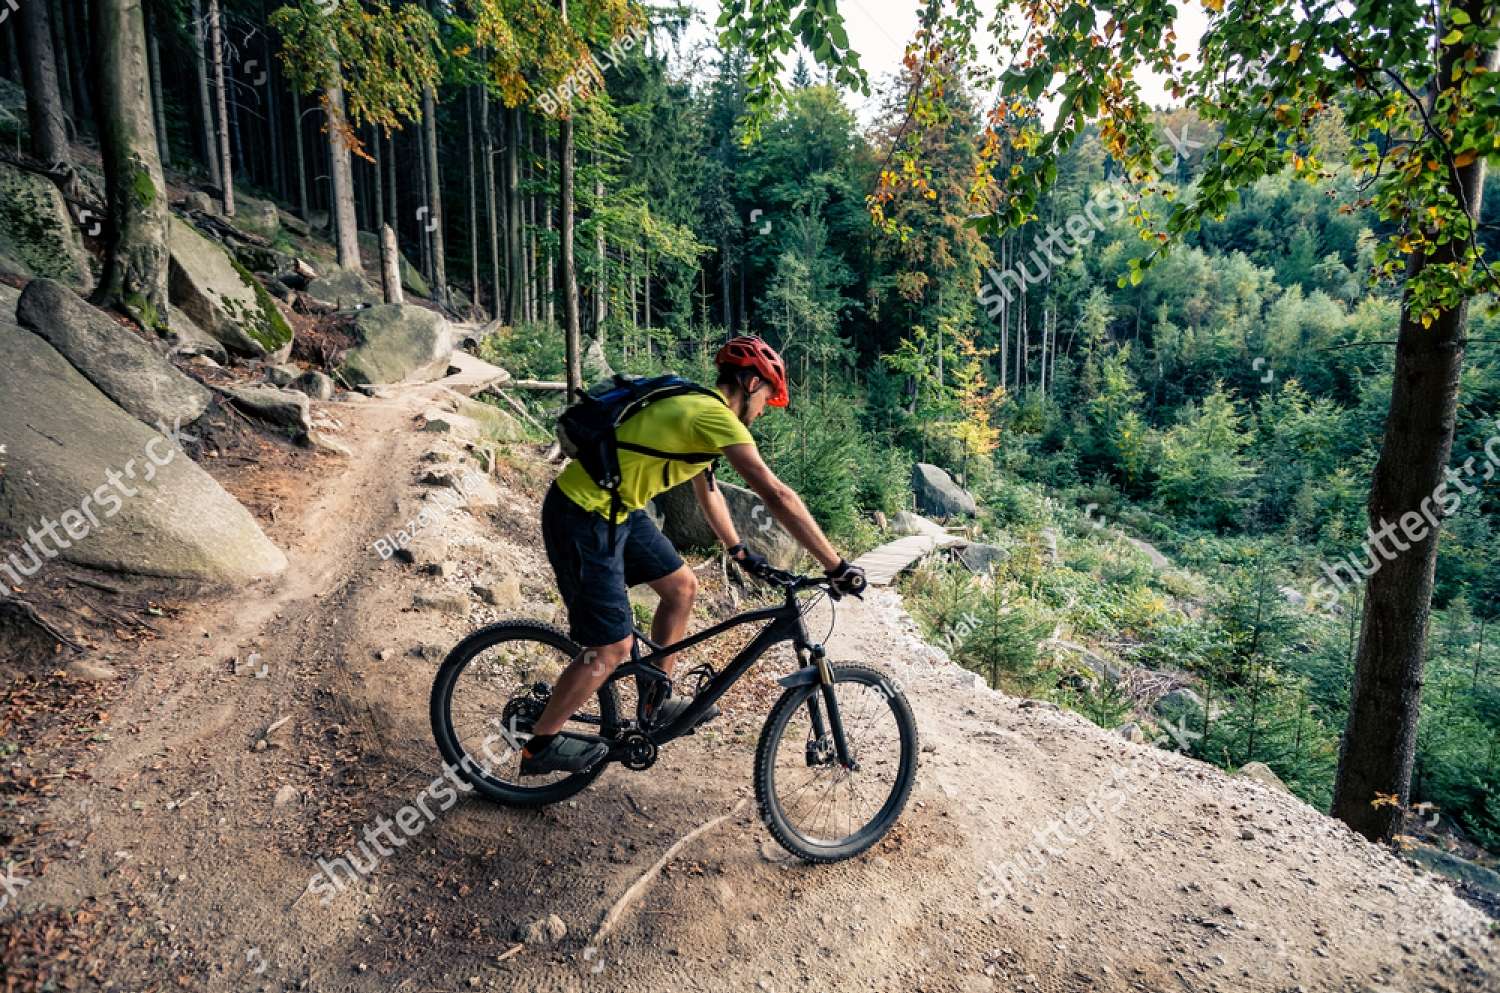
[[[600,382],[586,393],[579,392],[578,402],[558,417],[558,446],[574,459],[594,483],[609,494],[609,544],[615,544],[615,516],[620,513],[620,452],[636,452],[672,462],[708,462],[708,484],[714,484],[717,452],[662,452],[650,446],[621,441],[620,426],[644,411],[648,405],[672,396],[700,393],[720,404],[723,398],[706,387],[678,375],[632,378],[616,375],[609,382]],[[666,483],[668,466],[662,466],[662,482]]]

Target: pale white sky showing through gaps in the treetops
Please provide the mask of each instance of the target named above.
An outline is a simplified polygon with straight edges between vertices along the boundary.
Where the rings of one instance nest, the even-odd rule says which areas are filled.
[[[870,124],[879,110],[879,84],[900,69],[906,42],[916,33],[916,12],[921,9],[921,0],[837,0],[837,3],[849,32],[849,44],[860,52],[860,63],[868,74],[873,90],[868,98],[848,94],[846,99],[858,112],[860,120]],[[718,0],[692,0],[692,6],[702,12],[702,22],[688,34],[690,44],[711,40],[714,38],[712,26],[720,10]],[[993,0],[981,0],[980,6],[988,12],[994,4]],[[1203,6],[1179,0],[1178,46],[1184,51],[1192,51],[1203,33]],[[812,68],[810,56],[807,62]],[[788,74],[795,63],[795,56],[789,56]],[[1142,78],[1142,92],[1152,106],[1173,104],[1160,81],[1154,78]]]

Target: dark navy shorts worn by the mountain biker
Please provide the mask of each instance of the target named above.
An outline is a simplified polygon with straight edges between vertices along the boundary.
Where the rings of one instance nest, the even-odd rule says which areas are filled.
[[[645,510],[615,526],[610,548],[609,522],[574,504],[556,483],[542,501],[542,540],[567,606],[568,638],[584,648],[628,638],[634,630],[628,588],[682,567]]]

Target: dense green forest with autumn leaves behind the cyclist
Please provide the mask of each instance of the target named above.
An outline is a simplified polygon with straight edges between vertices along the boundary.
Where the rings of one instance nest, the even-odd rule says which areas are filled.
[[[279,204],[339,267],[399,250],[520,376],[708,376],[760,334],[792,405],[758,440],[837,542],[876,544],[918,462],[976,496],[993,570],[903,591],[992,687],[1494,850],[1500,12],[1438,4],[1474,82],[1436,128],[1360,75],[1377,42],[1310,68],[1348,24],[1274,6],[1172,76],[1170,3],[1032,10],[1005,69],[933,3],[868,78],[831,3],[18,0],[0,144],[92,204],[94,300],[144,330],[195,190],[248,226]],[[1395,8],[1348,16],[1389,38]],[[1158,63],[1180,99],[1146,106],[1119,68]]]

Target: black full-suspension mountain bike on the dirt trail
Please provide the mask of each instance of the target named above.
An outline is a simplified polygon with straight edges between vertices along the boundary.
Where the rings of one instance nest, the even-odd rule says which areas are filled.
[[[826,579],[762,568],[758,578],[780,590],[778,606],[752,609],[692,634],[657,645],[640,632],[627,663],[600,686],[592,706],[573,716],[566,734],[602,741],[609,753],[582,772],[520,776],[520,748],[542,716],[552,682],[582,652],[567,634],[537,621],[500,621],[459,642],[432,684],[432,732],[442,759],[483,796],[508,807],[542,807],[573,796],[612,762],[650,770],[660,748],[694,734],[704,712],[771,648],[792,642],[800,668],[777,682],[754,758],[760,820],[794,855],[810,862],[852,858],[894,826],[916,777],[916,720],[900,687],[866,664],[834,663],[807,634],[804,615],[824,596],[838,598]],[[812,596],[804,596],[804,594]],[[722,669],[700,664],[692,705],[657,724],[648,700],[664,696],[672,678],[657,662],[724,632],[764,624]],[[642,654],[645,652],[645,654]],[[633,716],[621,711],[620,682],[634,678]]]

